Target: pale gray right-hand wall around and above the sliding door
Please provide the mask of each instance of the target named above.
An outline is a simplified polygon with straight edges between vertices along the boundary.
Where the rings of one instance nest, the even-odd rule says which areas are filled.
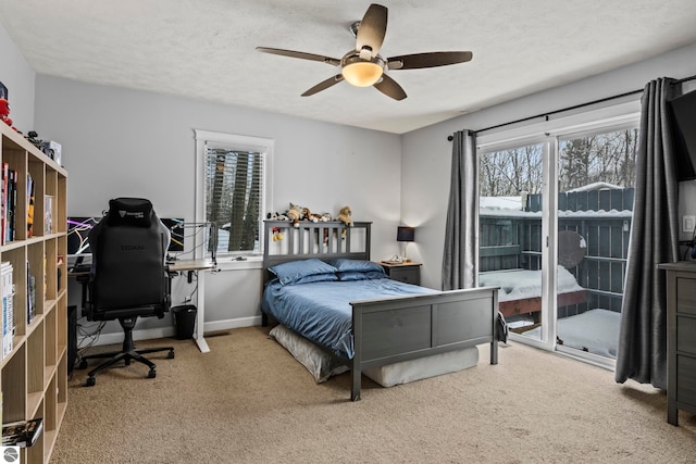
[[[422,284],[439,289],[442,283],[451,163],[447,136],[643,89],[658,77],[693,75],[696,45],[403,135],[401,216],[406,224],[418,226],[417,242],[409,246],[409,254],[423,263]],[[680,215],[696,214],[696,181],[682,183],[680,189]]]

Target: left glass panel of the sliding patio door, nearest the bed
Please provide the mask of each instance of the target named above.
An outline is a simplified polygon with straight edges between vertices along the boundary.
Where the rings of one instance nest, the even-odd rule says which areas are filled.
[[[545,278],[551,217],[544,214],[549,140],[480,153],[478,284],[498,286],[514,334],[551,347]]]

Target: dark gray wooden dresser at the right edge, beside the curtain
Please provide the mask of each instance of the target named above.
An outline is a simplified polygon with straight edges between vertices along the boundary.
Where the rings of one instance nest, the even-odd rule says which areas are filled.
[[[696,413],[696,262],[660,264],[667,271],[667,422],[679,410]]]

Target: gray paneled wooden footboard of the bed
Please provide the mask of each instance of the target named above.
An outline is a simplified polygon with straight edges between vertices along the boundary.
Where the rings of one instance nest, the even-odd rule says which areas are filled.
[[[360,399],[362,371],[490,342],[498,363],[498,288],[353,301],[355,358],[350,399]]]

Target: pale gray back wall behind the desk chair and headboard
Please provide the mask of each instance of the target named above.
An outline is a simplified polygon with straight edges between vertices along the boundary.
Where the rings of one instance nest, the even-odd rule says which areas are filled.
[[[291,201],[337,215],[349,204],[355,221],[373,223],[374,259],[398,250],[400,136],[45,75],[36,78],[36,125],[62,145],[69,215],[100,215],[111,198],[145,197],[160,216],[192,222],[194,129],[206,129],[275,140],[275,211]],[[253,324],[261,280],[253,262],[208,274],[206,330]],[[177,279],[174,292],[181,304],[190,289]],[[78,289],[71,288],[77,304],[72,294]],[[163,325],[170,317],[139,328]]]

